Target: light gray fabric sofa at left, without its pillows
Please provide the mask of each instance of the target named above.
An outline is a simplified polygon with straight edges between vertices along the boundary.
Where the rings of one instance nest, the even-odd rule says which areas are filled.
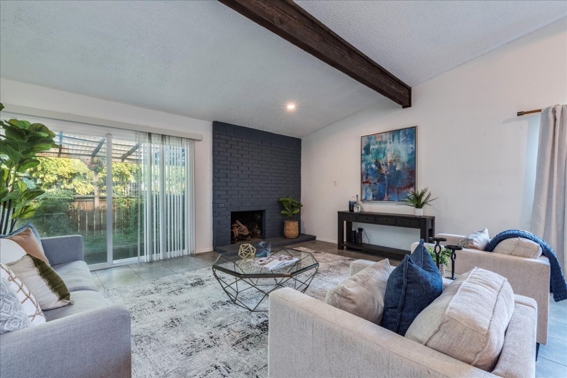
[[[74,304],[45,311],[47,323],[0,335],[2,378],[129,378],[130,313],[107,304],[83,261],[80,235],[41,239]]]

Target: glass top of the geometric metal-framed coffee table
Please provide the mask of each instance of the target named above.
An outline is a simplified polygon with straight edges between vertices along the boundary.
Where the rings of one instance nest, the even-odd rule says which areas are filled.
[[[242,277],[286,277],[319,266],[312,254],[292,248],[272,248],[267,260],[268,263],[273,263],[274,260],[281,261],[283,265],[270,269],[262,265],[266,263],[266,257],[242,259],[238,253],[225,252],[218,256],[213,269]]]

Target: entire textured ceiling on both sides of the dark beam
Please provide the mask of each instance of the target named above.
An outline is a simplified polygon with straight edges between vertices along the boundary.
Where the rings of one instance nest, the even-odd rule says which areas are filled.
[[[567,8],[564,1],[298,3],[412,86]],[[298,137],[389,101],[216,1],[0,1],[0,76]],[[294,112],[285,110],[291,101]]]

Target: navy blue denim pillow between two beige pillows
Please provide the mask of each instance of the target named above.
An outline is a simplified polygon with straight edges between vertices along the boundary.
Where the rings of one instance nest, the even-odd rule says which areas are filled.
[[[411,255],[405,255],[388,278],[382,327],[401,336],[417,315],[443,291],[443,278],[424,247],[424,239]]]

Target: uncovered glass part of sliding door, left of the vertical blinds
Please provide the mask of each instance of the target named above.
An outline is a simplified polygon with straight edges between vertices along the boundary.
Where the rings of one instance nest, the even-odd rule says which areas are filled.
[[[32,173],[46,190],[33,225],[42,236],[81,234],[84,260],[90,265],[137,260],[141,239],[136,133],[115,136],[92,128],[89,134],[51,128],[59,146],[44,153]]]

